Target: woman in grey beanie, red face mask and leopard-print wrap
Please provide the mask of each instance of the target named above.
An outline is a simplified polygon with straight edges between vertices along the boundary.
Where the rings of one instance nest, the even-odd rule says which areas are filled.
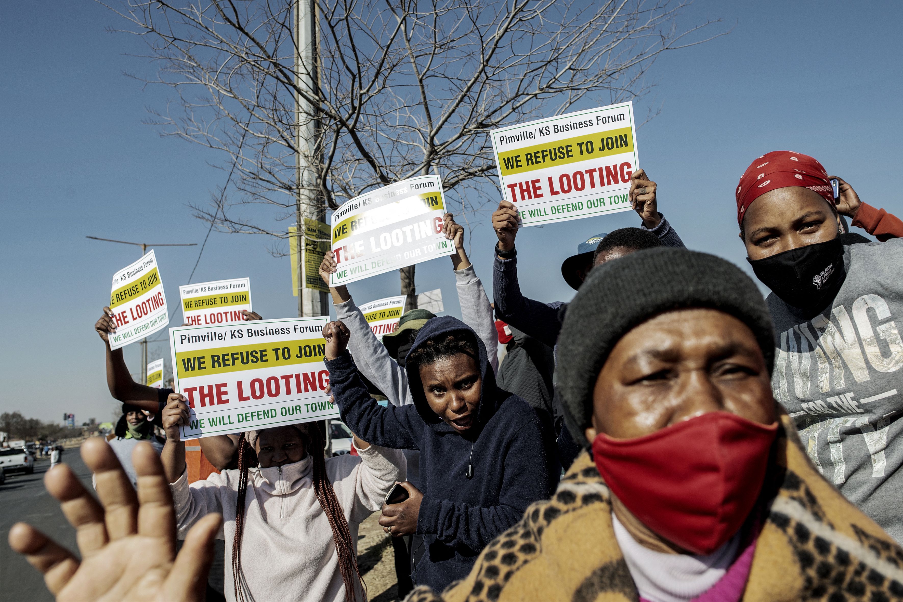
[[[593,270],[557,364],[587,452],[442,599],[903,596],[903,549],[809,463],[773,357],[765,302],[724,260],[652,249]]]

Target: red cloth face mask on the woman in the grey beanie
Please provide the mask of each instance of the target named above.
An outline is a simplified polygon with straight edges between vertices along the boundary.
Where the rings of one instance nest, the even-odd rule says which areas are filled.
[[[709,412],[636,439],[599,434],[592,454],[611,492],[649,529],[711,554],[749,515],[777,422]]]

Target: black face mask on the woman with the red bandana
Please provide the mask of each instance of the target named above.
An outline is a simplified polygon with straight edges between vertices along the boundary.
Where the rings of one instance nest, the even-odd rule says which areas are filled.
[[[840,236],[747,261],[759,280],[787,305],[807,312],[823,310],[846,278]]]

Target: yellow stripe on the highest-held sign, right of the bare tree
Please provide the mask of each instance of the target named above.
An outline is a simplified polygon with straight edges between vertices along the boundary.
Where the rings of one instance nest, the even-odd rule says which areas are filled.
[[[633,134],[629,127],[498,153],[498,163],[502,175],[507,176],[620,153],[633,153]]]

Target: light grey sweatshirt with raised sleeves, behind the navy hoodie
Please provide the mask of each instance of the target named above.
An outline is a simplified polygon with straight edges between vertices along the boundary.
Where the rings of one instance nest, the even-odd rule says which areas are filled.
[[[498,331],[492,316],[492,305],[483,283],[473,270],[473,265],[456,270],[455,287],[458,289],[458,301],[461,303],[461,321],[470,326],[486,346],[489,364],[498,372]],[[364,320],[364,315],[355,305],[353,299],[344,303],[335,303],[336,319],[341,320],[351,333],[348,350],[360,374],[364,375],[377,389],[386,395],[392,405],[414,403],[411,391],[407,386],[405,370],[389,356],[382,341],[373,334],[373,330]],[[420,452],[405,449],[407,460],[407,478],[417,484],[420,468]]]

